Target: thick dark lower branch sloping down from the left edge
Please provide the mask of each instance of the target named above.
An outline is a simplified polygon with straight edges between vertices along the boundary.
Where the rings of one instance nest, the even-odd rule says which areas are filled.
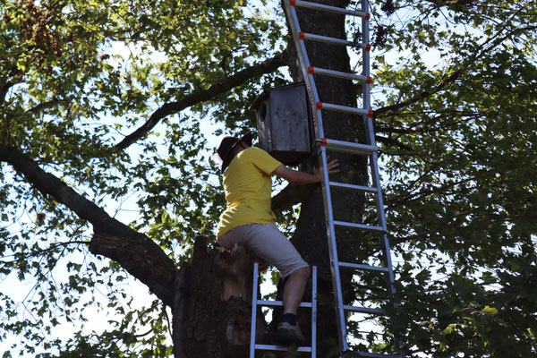
[[[171,306],[175,295],[177,268],[157,243],[124,225],[105,210],[75,192],[62,180],[41,169],[20,150],[0,145],[0,162],[6,162],[21,173],[39,192],[58,202],[93,226],[95,233],[90,251],[117,261],[132,276]]]

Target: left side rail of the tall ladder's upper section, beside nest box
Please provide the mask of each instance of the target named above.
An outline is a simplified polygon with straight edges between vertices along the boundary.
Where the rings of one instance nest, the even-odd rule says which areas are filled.
[[[306,46],[303,39],[299,38],[299,33],[302,32],[300,29],[300,24],[298,23],[298,16],[296,15],[296,10],[292,6],[289,0],[285,0],[284,4],[286,6],[287,19],[289,21],[289,26],[293,32],[294,47],[296,47],[296,53],[298,55],[301,70],[303,72],[304,82],[306,84],[306,91],[308,92],[308,98],[310,99],[311,106],[311,116],[313,117],[313,129],[315,132],[315,138],[324,138],[324,130],[322,128],[322,115],[320,109],[317,108],[317,103],[320,102],[319,94],[317,92],[317,87],[315,86],[315,81],[313,75],[308,73],[308,67],[310,67],[310,59],[306,52]]]

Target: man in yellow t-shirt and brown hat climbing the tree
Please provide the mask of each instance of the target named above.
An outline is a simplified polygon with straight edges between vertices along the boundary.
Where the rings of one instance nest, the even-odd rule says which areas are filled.
[[[278,324],[277,337],[282,345],[304,345],[296,312],[311,268],[275,226],[276,217],[270,209],[271,175],[293,184],[320,183],[320,170],[314,168],[311,175],[288,168],[266,151],[251,147],[251,132],[242,138],[226,136],[217,149],[217,158],[222,162],[227,202],[217,226],[218,243],[227,250],[241,245],[253,256],[275,266],[282,278],[288,277],[284,316]],[[337,160],[329,162],[328,173],[337,173],[337,166]]]

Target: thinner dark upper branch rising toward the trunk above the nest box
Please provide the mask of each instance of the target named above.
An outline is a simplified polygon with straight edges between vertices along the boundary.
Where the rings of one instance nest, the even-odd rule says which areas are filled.
[[[208,90],[201,90],[199,92],[192,93],[176,102],[169,102],[158,108],[149,117],[149,120],[143,124],[136,131],[127,135],[123,141],[120,141],[115,145],[117,149],[125,149],[129,147],[134,141],[140,140],[145,136],[155,125],[160,122],[161,119],[167,115],[173,115],[182,111],[185,108],[192,107],[200,102],[214,98],[215,96],[231,90],[234,87],[242,84],[245,81],[251,80],[254,77],[260,76],[264,73],[274,72],[278,67],[286,65],[287,51],[275,55],[262,64],[255,64],[243,71],[237,72],[229,77],[226,77],[222,81],[212,85]]]

